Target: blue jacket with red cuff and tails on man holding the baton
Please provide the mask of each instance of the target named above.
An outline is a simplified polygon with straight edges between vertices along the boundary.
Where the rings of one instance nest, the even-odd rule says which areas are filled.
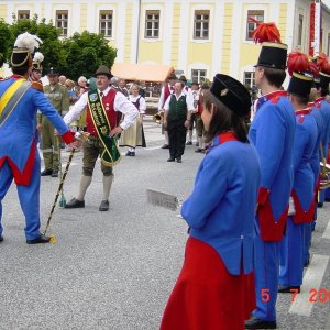
[[[15,79],[12,76],[0,81],[0,98]],[[38,82],[35,82],[38,84]],[[57,110],[50,103],[42,91],[34,85],[20,99],[9,118],[0,125],[0,168],[8,161],[19,185],[29,185],[36,152],[36,111],[41,110],[66,143],[74,141],[67,125]]]

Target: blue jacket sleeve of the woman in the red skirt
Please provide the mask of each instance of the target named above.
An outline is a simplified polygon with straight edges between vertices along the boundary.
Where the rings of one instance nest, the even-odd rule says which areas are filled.
[[[191,228],[201,228],[227,191],[226,160],[207,155],[199,168],[194,191],[184,202],[182,215]]]

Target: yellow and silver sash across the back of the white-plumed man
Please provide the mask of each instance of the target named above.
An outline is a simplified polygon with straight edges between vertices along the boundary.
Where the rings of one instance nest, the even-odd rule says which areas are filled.
[[[16,79],[0,98],[0,127],[10,117],[16,105],[30,88],[31,82],[24,78]]]

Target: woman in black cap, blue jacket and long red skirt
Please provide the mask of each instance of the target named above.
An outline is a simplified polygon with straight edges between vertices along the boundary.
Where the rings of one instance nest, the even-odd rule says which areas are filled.
[[[201,114],[211,147],[182,208],[189,238],[161,330],[244,329],[255,306],[253,219],[261,173],[243,122],[250,107],[240,81],[216,75]]]

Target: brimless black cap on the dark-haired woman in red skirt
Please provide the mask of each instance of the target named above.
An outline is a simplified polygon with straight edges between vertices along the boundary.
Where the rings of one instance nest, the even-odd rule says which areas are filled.
[[[245,117],[251,110],[250,92],[243,84],[230,76],[217,74],[210,91],[232,112],[240,117]]]

